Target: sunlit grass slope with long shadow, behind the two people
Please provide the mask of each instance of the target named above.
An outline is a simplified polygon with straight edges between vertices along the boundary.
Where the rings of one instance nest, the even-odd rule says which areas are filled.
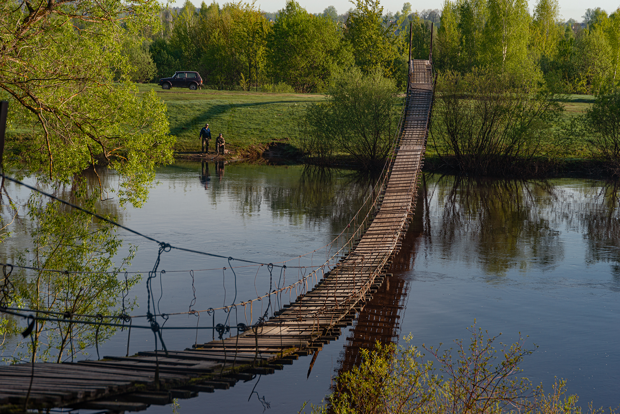
[[[177,137],[177,151],[200,151],[198,134],[205,123],[209,123],[213,137],[211,151],[219,133],[224,134],[226,148],[233,150],[286,138],[296,114],[306,105],[324,99],[322,94],[163,90],[156,84],[141,84],[139,89],[154,89],[166,103],[170,133]]]

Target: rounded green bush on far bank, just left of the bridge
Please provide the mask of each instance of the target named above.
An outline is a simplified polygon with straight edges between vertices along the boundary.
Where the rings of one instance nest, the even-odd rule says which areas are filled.
[[[396,86],[376,68],[363,75],[358,68],[337,77],[327,102],[308,107],[308,125],[320,156],[334,149],[352,156],[365,169],[383,167],[398,127]]]

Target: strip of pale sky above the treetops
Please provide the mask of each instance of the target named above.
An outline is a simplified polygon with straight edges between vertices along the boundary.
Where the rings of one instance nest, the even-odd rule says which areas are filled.
[[[227,2],[228,0],[219,0],[220,6]],[[249,0],[244,0],[249,1]],[[327,6],[334,6],[338,11],[338,14],[342,14],[346,12],[350,7],[353,6],[351,2],[348,0],[298,0],[299,4],[304,7],[310,13],[320,13]],[[391,11],[397,12],[402,9],[402,4],[407,0],[382,0],[381,6],[384,7],[383,11]],[[415,11],[422,11],[423,9],[441,9],[441,4],[443,4],[443,0],[425,0],[425,1],[415,1],[408,0],[411,3],[412,9]],[[170,1],[170,6],[182,6],[185,0],[177,0],[175,2]],[[192,0],[193,4],[197,7],[200,7],[200,3],[202,0]],[[211,0],[205,0],[207,4],[210,4]],[[275,12],[280,9],[283,9],[285,6],[286,0],[257,0],[256,4],[260,7],[261,10],[266,12]],[[536,0],[529,1],[529,9],[530,11],[536,5]],[[606,10],[608,13],[613,12],[620,6],[620,2],[618,0],[598,0],[592,3],[585,2],[583,0],[560,0],[560,13],[564,20],[575,19],[578,22],[581,22],[582,15],[585,13],[585,9],[588,7],[594,9],[596,7],[601,7]]]

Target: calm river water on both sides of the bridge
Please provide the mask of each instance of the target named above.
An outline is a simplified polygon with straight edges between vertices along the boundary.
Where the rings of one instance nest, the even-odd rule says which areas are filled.
[[[350,172],[321,174],[300,166],[177,162],[159,169],[157,180],[143,208],[120,211],[125,226],[179,247],[267,263],[322,247],[368,196],[368,182]],[[311,358],[300,358],[273,375],[180,400],[179,412],[298,412],[304,401],[320,403],[335,372],[358,360],[360,338],[389,340],[412,333],[415,345],[449,346],[456,338],[469,338],[466,328],[474,319],[490,334],[501,332],[505,343],[519,332],[529,335],[528,344],[539,347],[521,368],[534,384],[551,390],[554,377],[565,378],[569,393],[578,394],[583,406],[593,400],[595,406],[618,407],[618,189],[618,184],[572,178],[473,180],[426,174],[389,283],[358,326],[324,346],[308,379]],[[119,235],[125,247],[139,245],[128,270],[151,270],[157,245]],[[230,304],[235,296],[238,302],[264,294],[270,278],[272,288],[282,286],[283,278],[290,282],[304,272],[292,266],[320,261],[317,250],[288,262],[286,271],[270,274],[266,266],[249,266],[232,273],[231,265],[247,263],[172,250],[161,255],[159,270],[166,273],[153,281],[153,290],[156,299],[161,296],[161,312],[186,312],[194,298],[193,274],[192,309],[203,310]],[[146,313],[144,281],[131,294],[140,304],[133,314]],[[242,309],[219,312],[215,323],[226,318],[234,324],[255,322],[259,311],[256,307],[252,316]],[[391,315],[383,332],[368,328],[378,314]],[[201,320],[180,315],[167,322],[197,323],[211,326],[213,321],[204,313]],[[168,349],[183,349],[212,337],[211,330],[167,331],[164,340]],[[125,355],[126,339],[125,332],[118,333],[100,353]],[[152,333],[133,330],[130,353],[146,349],[153,349]],[[148,411],[170,413],[171,408]]]

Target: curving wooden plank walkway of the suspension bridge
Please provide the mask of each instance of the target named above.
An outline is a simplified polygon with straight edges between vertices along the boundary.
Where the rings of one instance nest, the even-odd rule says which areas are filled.
[[[71,407],[122,412],[197,392],[228,389],[236,381],[272,374],[299,356],[314,354],[352,325],[384,281],[415,208],[418,175],[433,97],[432,65],[410,62],[410,84],[389,180],[374,220],[332,271],[305,295],[284,305],[264,325],[240,335],[179,351],[104,356],[101,361],[0,366],[0,413]]]

